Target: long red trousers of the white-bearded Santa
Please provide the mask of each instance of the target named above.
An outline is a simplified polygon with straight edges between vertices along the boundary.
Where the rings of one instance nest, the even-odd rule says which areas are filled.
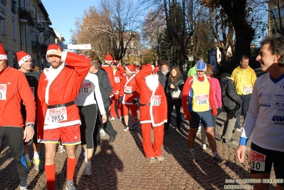
[[[152,143],[152,128],[154,130],[154,143]],[[151,123],[142,123],[142,146],[144,149],[145,156],[149,157],[159,157],[162,155],[162,144],[164,141],[164,124],[152,127]]]

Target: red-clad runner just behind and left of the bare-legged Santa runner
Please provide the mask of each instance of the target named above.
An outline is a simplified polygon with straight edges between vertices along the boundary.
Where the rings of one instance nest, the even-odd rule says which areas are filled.
[[[117,86],[117,89],[120,90],[120,81],[122,79],[123,73],[125,73],[125,68],[118,62],[118,60],[112,61],[112,71],[113,75],[115,75],[115,84]],[[122,104],[120,101],[118,101],[118,98],[120,97],[119,94],[116,94],[111,97],[111,103],[110,103],[110,120],[115,120],[115,103],[117,105],[117,117],[119,118],[120,122],[122,121]]]

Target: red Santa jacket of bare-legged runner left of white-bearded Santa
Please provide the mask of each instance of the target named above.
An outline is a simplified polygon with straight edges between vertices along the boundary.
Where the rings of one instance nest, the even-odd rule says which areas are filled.
[[[135,81],[135,74],[131,76],[122,75],[120,95],[122,96],[122,104],[133,105],[134,98],[139,96],[139,88]]]

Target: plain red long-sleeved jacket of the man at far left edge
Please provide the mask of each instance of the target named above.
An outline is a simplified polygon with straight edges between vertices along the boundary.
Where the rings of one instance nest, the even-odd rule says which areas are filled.
[[[8,67],[0,73],[0,127],[23,127],[21,100],[26,106],[26,123],[34,123],[36,102],[28,80],[20,70]]]

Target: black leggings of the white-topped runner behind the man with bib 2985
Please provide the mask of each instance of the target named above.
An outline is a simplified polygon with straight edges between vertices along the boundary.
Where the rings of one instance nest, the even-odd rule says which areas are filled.
[[[95,121],[98,117],[98,106],[96,104],[78,106],[80,119],[81,144],[87,144],[87,149],[93,149],[93,133],[95,130]]]

